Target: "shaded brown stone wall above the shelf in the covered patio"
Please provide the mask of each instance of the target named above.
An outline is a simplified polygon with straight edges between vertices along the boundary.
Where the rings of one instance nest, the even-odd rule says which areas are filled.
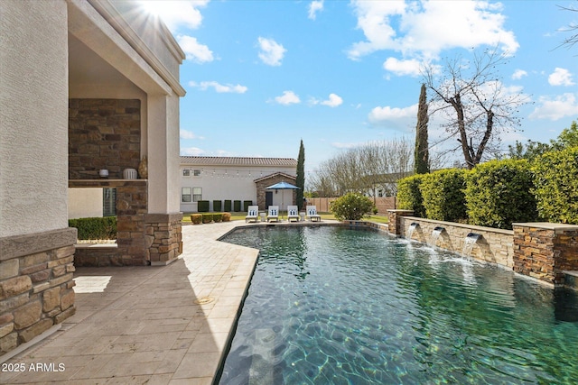
[[[141,102],[138,99],[69,100],[69,179],[121,179],[141,159]]]

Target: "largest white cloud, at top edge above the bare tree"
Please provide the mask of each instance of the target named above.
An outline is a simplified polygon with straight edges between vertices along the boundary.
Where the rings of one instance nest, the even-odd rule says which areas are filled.
[[[350,59],[376,50],[396,50],[424,59],[442,50],[499,45],[513,54],[519,44],[504,28],[501,5],[487,1],[353,1],[366,40],[354,43]],[[394,26],[399,26],[394,28]]]

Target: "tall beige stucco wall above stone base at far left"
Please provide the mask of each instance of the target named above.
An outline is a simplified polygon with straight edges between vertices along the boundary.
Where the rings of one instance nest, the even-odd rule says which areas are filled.
[[[0,237],[62,229],[68,227],[67,5],[3,1],[0,23]]]

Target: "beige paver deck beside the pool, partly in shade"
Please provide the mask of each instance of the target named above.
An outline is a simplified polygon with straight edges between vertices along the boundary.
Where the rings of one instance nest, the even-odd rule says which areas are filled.
[[[183,225],[168,266],[77,268],[76,314],[0,383],[210,384],[256,265],[256,249],[217,241],[241,225]]]

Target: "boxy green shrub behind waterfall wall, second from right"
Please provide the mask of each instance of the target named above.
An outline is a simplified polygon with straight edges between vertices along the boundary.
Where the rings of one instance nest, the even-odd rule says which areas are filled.
[[[527,160],[491,160],[466,174],[470,225],[511,229],[537,219],[533,176]]]

